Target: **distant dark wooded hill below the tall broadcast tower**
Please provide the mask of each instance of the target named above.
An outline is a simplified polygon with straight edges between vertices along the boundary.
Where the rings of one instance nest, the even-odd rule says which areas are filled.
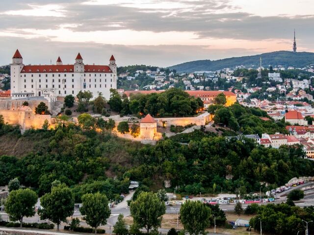
[[[302,68],[304,66],[314,64],[314,53],[312,52],[296,52],[291,51],[274,51],[263,53],[260,55],[232,57],[221,60],[196,60],[185,62],[183,64],[168,67],[170,70],[177,72],[194,72],[194,71],[216,71],[224,68],[235,68],[235,66],[245,66],[247,68],[258,68],[262,57],[262,67],[268,68],[269,65],[282,65],[284,67],[293,66]]]

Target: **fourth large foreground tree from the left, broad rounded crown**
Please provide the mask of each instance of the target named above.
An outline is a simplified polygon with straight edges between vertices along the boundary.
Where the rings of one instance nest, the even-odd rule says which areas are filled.
[[[137,199],[131,202],[131,216],[138,228],[145,228],[149,234],[152,228],[161,226],[162,215],[166,212],[164,202],[153,192],[141,192]]]

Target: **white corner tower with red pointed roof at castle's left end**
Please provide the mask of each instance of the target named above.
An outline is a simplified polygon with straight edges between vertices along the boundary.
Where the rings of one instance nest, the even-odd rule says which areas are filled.
[[[11,94],[19,92],[19,78],[20,73],[22,71],[23,65],[23,57],[20,51],[17,49],[12,57],[12,64],[10,64],[11,68]]]

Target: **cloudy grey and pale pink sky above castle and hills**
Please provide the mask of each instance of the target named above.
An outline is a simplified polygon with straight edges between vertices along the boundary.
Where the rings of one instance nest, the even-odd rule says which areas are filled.
[[[0,0],[0,65],[179,63],[314,52],[313,0]]]

